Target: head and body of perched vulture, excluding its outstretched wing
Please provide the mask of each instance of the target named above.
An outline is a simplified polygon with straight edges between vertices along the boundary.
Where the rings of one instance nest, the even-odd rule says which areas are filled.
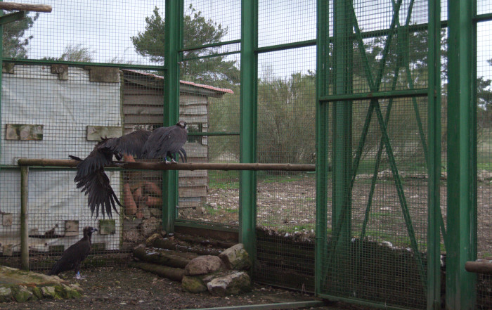
[[[176,163],[173,154],[179,153],[181,159],[186,161],[186,151],[183,149],[188,138],[186,122],[179,121],[170,127],[160,127],[152,131],[142,150],[143,158],[163,158],[166,164]],[[167,157],[171,162],[167,161]]]

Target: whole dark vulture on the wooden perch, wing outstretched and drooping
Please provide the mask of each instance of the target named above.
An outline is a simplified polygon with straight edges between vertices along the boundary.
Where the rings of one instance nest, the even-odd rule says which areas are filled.
[[[97,218],[101,206],[103,217],[108,214],[112,218],[112,209],[117,212],[116,205],[122,207],[104,172],[104,167],[113,164],[113,155],[117,160],[121,160],[123,155],[148,159],[163,157],[164,162],[169,163],[166,157],[176,162],[173,154],[179,153],[181,160],[186,161],[183,145],[187,137],[186,122],[180,121],[174,126],[160,127],[152,132],[140,129],[119,138],[102,138],[84,160],[69,155],[72,160],[79,161],[74,181],[77,188],[82,188],[82,193],[88,196],[92,214],[96,211]]]

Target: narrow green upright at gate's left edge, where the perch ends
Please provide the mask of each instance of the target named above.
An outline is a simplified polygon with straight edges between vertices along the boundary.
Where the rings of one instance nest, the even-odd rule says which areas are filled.
[[[319,100],[328,94],[329,32],[328,3],[318,0],[316,45],[316,245],[315,245],[315,293],[321,292],[323,261],[326,257],[328,225],[328,103]]]

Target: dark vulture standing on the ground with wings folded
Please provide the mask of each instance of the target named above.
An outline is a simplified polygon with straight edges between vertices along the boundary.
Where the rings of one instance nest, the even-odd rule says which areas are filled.
[[[68,270],[75,271],[75,278],[80,279],[80,263],[89,255],[91,251],[91,237],[96,228],[86,226],[84,228],[84,238],[63,252],[62,257],[56,261],[47,274],[48,276],[58,275],[58,273]]]

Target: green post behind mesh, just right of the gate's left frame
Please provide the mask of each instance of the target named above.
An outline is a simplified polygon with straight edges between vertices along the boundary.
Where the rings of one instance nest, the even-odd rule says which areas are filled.
[[[334,85],[335,94],[352,93],[352,19],[351,0],[337,0],[333,4],[334,16]],[[333,240],[336,257],[333,264],[344,264],[349,261],[351,240],[351,197],[349,193],[352,174],[352,102],[335,101],[332,110],[332,223],[340,226],[339,240]],[[344,210],[345,208],[345,210]],[[346,213],[342,217],[342,212]],[[338,243],[337,243],[338,241]],[[335,266],[333,266],[335,267]],[[348,267],[348,266],[347,266]],[[331,266],[330,266],[331,268]],[[349,272],[349,268],[337,266],[332,269],[336,273]],[[339,276],[344,277],[342,274]]]

